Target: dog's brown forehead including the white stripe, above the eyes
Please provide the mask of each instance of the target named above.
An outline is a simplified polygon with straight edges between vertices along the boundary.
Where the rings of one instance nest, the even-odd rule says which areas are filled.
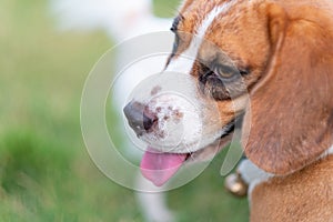
[[[270,50],[264,6],[261,0],[188,0],[181,8],[182,21],[178,28],[202,40],[198,47],[200,59],[215,57],[219,49],[240,65],[261,67]],[[183,39],[178,54],[191,47],[193,36]]]

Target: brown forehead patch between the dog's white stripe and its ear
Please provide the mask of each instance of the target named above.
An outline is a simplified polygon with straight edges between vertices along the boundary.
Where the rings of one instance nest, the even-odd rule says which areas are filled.
[[[264,3],[244,1],[216,16],[204,38],[241,63],[260,67],[270,50],[266,20]]]

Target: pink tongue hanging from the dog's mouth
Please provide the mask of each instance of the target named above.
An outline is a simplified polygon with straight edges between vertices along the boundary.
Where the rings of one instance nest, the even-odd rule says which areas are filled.
[[[180,169],[186,157],[186,153],[159,153],[148,148],[140,169],[144,178],[161,186]]]

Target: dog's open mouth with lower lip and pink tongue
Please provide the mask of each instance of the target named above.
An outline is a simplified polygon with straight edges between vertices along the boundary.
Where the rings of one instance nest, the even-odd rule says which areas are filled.
[[[140,170],[142,175],[150,180],[157,186],[164,185],[186,162],[195,162],[212,159],[220,150],[222,150],[235,128],[235,121],[225,125],[226,131],[212,144],[202,148],[195,152],[189,153],[171,153],[160,152],[152,147],[148,147],[144,152]],[[209,158],[206,158],[209,157]]]

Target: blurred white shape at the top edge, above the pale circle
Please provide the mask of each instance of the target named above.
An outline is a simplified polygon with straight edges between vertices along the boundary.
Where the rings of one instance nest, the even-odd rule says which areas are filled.
[[[151,0],[51,0],[51,10],[62,30],[101,29],[118,42],[171,26],[153,14]]]

